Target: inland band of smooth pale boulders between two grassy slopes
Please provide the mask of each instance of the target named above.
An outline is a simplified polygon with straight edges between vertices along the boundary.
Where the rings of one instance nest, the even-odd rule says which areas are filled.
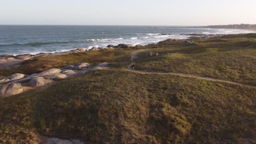
[[[13,74],[9,77],[0,78],[0,97],[10,96],[25,92],[25,87],[40,87],[56,80],[67,79],[79,74],[85,74],[88,70],[100,70],[108,67],[109,63],[98,64],[91,67],[89,63],[68,65],[61,69],[48,69],[42,73],[24,75]]]

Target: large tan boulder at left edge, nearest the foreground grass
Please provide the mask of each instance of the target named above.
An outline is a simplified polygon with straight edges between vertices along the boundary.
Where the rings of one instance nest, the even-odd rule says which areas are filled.
[[[20,83],[10,83],[0,88],[0,97],[10,96],[24,92]]]

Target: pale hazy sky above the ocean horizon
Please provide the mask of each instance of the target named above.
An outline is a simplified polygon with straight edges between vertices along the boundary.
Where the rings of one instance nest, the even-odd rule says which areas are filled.
[[[0,0],[0,25],[256,24],[256,0]]]

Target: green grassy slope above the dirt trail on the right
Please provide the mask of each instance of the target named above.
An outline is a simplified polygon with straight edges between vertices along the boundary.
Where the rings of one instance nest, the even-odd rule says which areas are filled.
[[[241,36],[242,37],[242,36]],[[256,39],[211,38],[139,53],[136,69],[194,74],[256,86]],[[158,56],[149,56],[157,52]]]

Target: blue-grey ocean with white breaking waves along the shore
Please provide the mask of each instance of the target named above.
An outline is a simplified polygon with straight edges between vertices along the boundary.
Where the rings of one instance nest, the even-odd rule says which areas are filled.
[[[240,29],[210,29],[152,26],[0,26],[0,55],[40,52],[54,53],[80,47],[106,47],[109,44],[158,43],[166,39],[186,39],[181,34],[253,33]]]

